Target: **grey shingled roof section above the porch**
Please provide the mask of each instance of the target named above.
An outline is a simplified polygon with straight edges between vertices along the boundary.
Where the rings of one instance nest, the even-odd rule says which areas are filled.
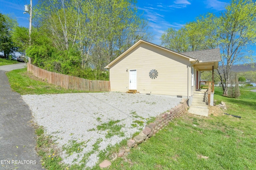
[[[190,57],[194,57],[198,59],[200,63],[220,61],[220,49],[190,51],[190,52],[184,52],[182,54],[188,55]]]

